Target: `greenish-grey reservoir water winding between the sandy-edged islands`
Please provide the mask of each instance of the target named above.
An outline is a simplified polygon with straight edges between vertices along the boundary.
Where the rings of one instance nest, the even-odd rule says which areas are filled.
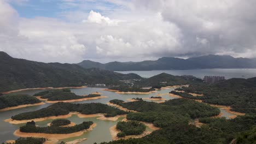
[[[71,89],[72,92],[78,95],[84,95],[84,94],[90,94],[93,92],[100,92],[102,95],[107,96],[108,98],[103,98],[103,99],[96,99],[96,100],[87,100],[87,101],[79,101],[75,103],[103,103],[106,104],[108,103],[109,100],[112,99],[120,99],[120,100],[125,100],[129,98],[149,98],[152,96],[156,96],[157,94],[165,94],[173,90],[173,88],[170,89],[162,89],[161,91],[158,91],[156,93],[151,93],[151,94],[117,94],[114,92],[108,92],[108,91],[102,91],[103,88],[82,88],[82,89]],[[17,92],[22,93],[22,94],[30,94],[33,95],[34,93],[44,91],[44,90],[28,90],[28,91],[22,91],[22,92]],[[168,95],[162,95],[162,98],[165,98],[167,100],[174,99],[173,97],[169,97]],[[147,100],[150,101],[150,100]],[[16,140],[18,137],[15,137],[13,135],[13,132],[16,129],[19,129],[21,125],[24,124],[9,124],[7,122],[4,122],[4,119],[8,119],[11,116],[17,115],[22,112],[29,112],[29,111],[35,111],[42,109],[43,107],[47,107],[51,104],[45,104],[45,105],[39,105],[39,106],[31,106],[31,107],[25,107],[21,109],[16,109],[16,110],[10,110],[10,111],[5,111],[5,112],[0,112],[0,143],[6,141],[6,140]],[[229,113],[226,113],[225,111],[222,110],[224,113],[224,117],[230,116]],[[81,142],[82,144],[92,144],[94,142],[103,142],[103,141],[112,141],[110,133],[109,133],[109,128],[112,127],[113,125],[117,124],[118,121],[120,121],[122,118],[119,118],[118,121],[113,122],[113,121],[102,121],[97,118],[79,118],[76,115],[73,115],[72,117],[67,118],[70,121],[79,124],[84,121],[93,121],[97,124],[97,127],[94,128],[92,131],[89,131],[82,136],[79,137],[73,137],[71,139],[65,139],[61,141],[72,141],[75,139],[80,139],[80,138],[88,138],[88,140],[85,140]],[[36,124],[39,126],[46,126],[47,123],[50,123],[52,120],[47,120],[47,121],[42,121],[42,122],[37,122]]]

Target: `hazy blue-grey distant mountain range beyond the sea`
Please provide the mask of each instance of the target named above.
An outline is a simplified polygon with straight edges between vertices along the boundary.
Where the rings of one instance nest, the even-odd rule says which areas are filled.
[[[212,69],[212,68],[256,68],[256,60],[231,56],[208,55],[188,59],[162,57],[156,61],[109,62],[106,64],[83,61],[84,68],[101,68],[115,71],[129,70],[169,70],[169,69]]]

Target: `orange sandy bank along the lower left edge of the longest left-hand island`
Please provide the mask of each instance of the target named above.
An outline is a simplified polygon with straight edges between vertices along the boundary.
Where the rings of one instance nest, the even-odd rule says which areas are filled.
[[[25,120],[21,120],[21,121],[9,118],[9,119],[5,119],[4,122],[9,122],[11,124],[27,123],[27,122],[31,122],[31,121],[40,122],[40,121],[45,121],[48,119],[68,118],[68,117],[71,117],[72,115],[78,115],[78,112],[70,112],[70,113],[68,113],[68,115],[62,115],[62,116],[50,116],[50,117],[43,117],[43,118],[25,119]]]

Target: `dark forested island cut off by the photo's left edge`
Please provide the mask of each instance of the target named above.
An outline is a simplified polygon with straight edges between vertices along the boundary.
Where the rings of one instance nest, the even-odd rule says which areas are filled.
[[[38,103],[41,103],[41,101],[27,94],[9,94],[0,96],[0,110],[7,107]]]

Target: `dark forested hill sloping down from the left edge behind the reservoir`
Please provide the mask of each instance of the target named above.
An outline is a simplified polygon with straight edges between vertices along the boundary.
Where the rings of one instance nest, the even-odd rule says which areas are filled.
[[[35,87],[82,86],[84,83],[110,85],[127,79],[141,77],[95,68],[84,69],[77,64],[27,61],[0,52],[0,92]]]

